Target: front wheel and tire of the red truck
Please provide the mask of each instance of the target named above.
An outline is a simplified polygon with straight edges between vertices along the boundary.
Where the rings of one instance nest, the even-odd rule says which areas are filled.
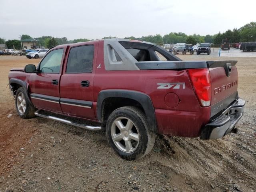
[[[29,119],[35,116],[36,109],[30,104],[26,90],[23,87],[18,88],[16,92],[15,106],[22,119]]]

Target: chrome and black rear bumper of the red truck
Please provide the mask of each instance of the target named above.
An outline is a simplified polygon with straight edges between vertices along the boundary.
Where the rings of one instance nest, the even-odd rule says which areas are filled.
[[[220,116],[204,126],[200,139],[218,139],[230,132],[236,132],[236,123],[244,113],[245,100],[237,99]]]

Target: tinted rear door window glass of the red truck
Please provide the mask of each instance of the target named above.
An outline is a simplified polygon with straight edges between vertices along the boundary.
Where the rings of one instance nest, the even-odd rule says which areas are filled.
[[[67,73],[92,72],[94,46],[85,45],[70,49],[67,63]]]

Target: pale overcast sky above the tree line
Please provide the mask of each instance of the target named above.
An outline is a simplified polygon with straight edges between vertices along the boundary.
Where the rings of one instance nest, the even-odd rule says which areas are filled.
[[[0,38],[213,35],[256,21],[256,0],[1,0]]]

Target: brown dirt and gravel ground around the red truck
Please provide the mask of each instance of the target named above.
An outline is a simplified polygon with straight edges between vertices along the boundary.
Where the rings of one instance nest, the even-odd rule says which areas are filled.
[[[39,60],[0,56],[0,192],[256,191],[256,57],[233,59],[238,60],[239,95],[246,100],[238,134],[207,141],[158,135],[147,156],[128,162],[114,153],[103,131],[20,119],[6,88],[8,70]]]

